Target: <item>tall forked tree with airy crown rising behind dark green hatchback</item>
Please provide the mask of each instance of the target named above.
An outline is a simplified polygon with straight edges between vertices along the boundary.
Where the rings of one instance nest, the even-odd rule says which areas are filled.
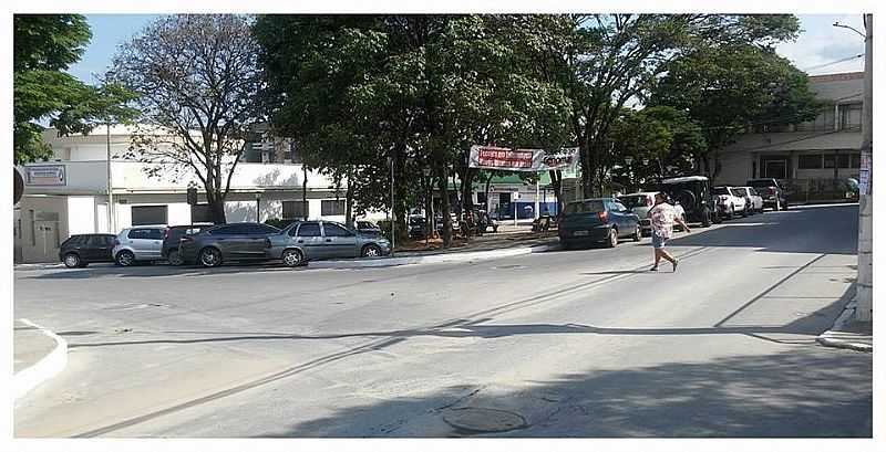
[[[608,132],[629,102],[642,103],[671,62],[694,49],[771,45],[793,38],[793,15],[593,14],[545,18],[552,33],[542,65],[571,101],[569,126],[581,157],[586,197],[600,193],[610,168]]]

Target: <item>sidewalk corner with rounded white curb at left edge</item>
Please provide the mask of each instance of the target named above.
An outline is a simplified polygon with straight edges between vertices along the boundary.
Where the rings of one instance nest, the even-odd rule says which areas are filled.
[[[68,364],[68,343],[24,318],[13,324],[12,348],[12,390],[16,399],[61,372]]]

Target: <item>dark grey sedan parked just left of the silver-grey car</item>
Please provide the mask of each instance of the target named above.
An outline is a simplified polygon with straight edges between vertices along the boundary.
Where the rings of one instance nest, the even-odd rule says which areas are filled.
[[[207,267],[227,261],[267,261],[270,236],[279,233],[279,229],[261,223],[219,224],[183,235],[178,255],[185,264]]]

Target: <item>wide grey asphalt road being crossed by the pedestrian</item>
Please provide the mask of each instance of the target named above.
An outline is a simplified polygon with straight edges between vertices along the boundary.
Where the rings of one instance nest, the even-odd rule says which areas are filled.
[[[870,354],[814,341],[856,235],[843,204],[678,233],[677,273],[647,271],[648,238],[363,270],[17,270],[16,318],[71,353],[16,435],[870,437]]]

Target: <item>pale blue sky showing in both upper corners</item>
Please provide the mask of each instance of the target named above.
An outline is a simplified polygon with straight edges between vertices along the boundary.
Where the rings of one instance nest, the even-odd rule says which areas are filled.
[[[842,63],[831,64],[864,53],[864,39],[842,28],[833,27],[839,22],[864,31],[861,14],[799,14],[803,33],[794,42],[780,44],[777,52],[810,75],[854,72],[864,69],[864,59],[855,57]],[[92,29],[92,41],[83,59],[72,65],[69,72],[75,77],[94,83],[95,74],[103,73],[120,44],[128,41],[157,15],[150,14],[87,14]]]

